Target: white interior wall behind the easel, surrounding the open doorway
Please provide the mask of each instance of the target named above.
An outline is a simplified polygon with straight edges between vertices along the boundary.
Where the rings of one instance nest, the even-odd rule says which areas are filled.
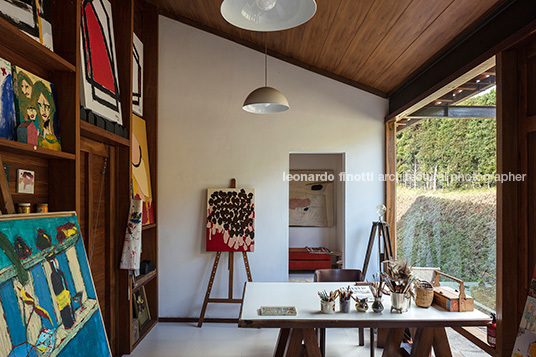
[[[288,182],[282,176],[289,153],[345,153],[348,172],[381,173],[387,100],[269,58],[268,84],[285,93],[291,109],[249,114],[241,104],[263,85],[262,53],[165,17],[159,40],[160,316],[198,317],[215,256],[205,252],[206,189],[228,187],[233,177],[238,186],[255,188],[253,279],[286,281]],[[382,201],[383,183],[347,183],[347,267],[363,264]],[[238,295],[246,280],[239,258]],[[226,275],[223,259],[213,297],[226,296]],[[238,309],[211,304],[206,316],[236,317]]]

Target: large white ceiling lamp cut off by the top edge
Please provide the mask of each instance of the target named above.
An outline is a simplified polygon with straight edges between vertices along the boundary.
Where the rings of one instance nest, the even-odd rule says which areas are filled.
[[[224,0],[221,14],[250,31],[281,31],[299,26],[316,12],[315,0]]]

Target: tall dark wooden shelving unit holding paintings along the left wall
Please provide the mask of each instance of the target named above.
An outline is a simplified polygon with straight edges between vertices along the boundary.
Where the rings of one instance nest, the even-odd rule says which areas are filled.
[[[158,9],[144,0],[112,4],[123,126],[132,121],[132,39],[144,44],[144,115],[149,138],[153,199],[157,197]],[[114,356],[129,354],[158,320],[158,270],[138,279],[119,269],[130,206],[131,139],[80,120],[81,2],[51,3],[54,51],[0,18],[0,57],[56,85],[62,151],[0,139],[0,155],[9,165],[9,188],[15,204],[48,202],[49,210],[76,211],[86,249],[97,240],[91,270],[107,336]],[[103,166],[104,163],[104,166]],[[106,168],[103,170],[103,167]],[[35,193],[18,194],[17,169],[35,172]],[[101,171],[104,174],[101,175]],[[106,189],[99,196],[101,182]],[[99,208],[100,213],[99,213]],[[156,204],[154,216],[157,217]],[[98,218],[101,218],[98,220]],[[99,229],[93,230],[99,222]],[[142,260],[158,267],[158,226],[143,227]],[[96,273],[98,272],[98,274]],[[145,287],[152,320],[132,340],[132,293]]]

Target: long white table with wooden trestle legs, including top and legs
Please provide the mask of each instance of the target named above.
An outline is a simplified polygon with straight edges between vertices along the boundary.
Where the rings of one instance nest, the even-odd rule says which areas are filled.
[[[413,303],[404,313],[391,312],[389,296],[383,297],[384,310],[375,313],[357,312],[323,314],[320,312],[318,291],[332,291],[354,283],[258,283],[247,282],[239,327],[279,328],[274,356],[296,356],[301,353],[304,341],[308,356],[320,356],[315,328],[373,327],[388,328],[389,333],[383,356],[399,356],[399,347],[405,328],[416,328],[412,356],[429,356],[433,346],[436,356],[452,356],[445,327],[481,326],[490,319],[479,311],[448,312],[432,306],[423,309]],[[354,304],[352,304],[354,305]],[[296,316],[261,316],[261,306],[295,306]],[[336,306],[338,310],[338,302]]]

